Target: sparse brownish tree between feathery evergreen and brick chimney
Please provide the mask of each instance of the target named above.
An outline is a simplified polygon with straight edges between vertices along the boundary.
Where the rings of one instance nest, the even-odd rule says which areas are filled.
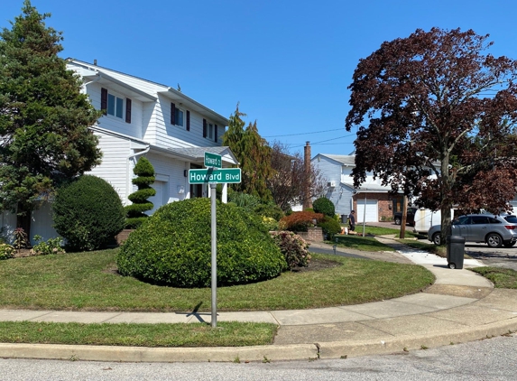
[[[305,171],[303,157],[300,153],[289,153],[286,144],[272,143],[272,176],[266,181],[272,199],[282,208],[290,210],[293,205],[303,204],[305,186],[308,185],[309,198],[323,194],[324,180],[319,170],[310,166]]]

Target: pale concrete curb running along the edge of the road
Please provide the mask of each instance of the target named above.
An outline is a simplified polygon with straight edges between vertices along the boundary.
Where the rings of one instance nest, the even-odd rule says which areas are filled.
[[[517,331],[517,317],[481,327],[426,335],[314,344],[214,348],[144,348],[53,344],[0,344],[0,358],[40,358],[121,362],[256,362],[353,358],[404,350],[437,348],[451,343],[489,339]]]

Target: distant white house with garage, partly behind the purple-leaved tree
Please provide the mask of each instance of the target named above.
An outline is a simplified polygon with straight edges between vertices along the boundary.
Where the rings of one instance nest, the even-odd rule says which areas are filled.
[[[379,179],[367,173],[366,181],[358,189],[354,188],[352,170],[355,167],[355,155],[318,153],[311,159],[327,181],[326,197],[331,200],[336,213],[346,218],[352,209],[360,222],[378,222],[392,218],[393,209],[400,208],[402,197],[390,194],[391,187],[381,185]],[[345,219],[346,221],[346,219]]]

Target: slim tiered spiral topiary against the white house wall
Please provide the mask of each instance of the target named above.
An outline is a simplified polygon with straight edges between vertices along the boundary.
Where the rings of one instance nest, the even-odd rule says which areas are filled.
[[[132,182],[138,187],[138,190],[127,197],[133,204],[125,207],[125,228],[138,228],[142,225],[145,218],[149,217],[144,211],[151,210],[153,207],[152,202],[148,199],[156,194],[156,190],[151,188],[155,179],[154,168],[147,158],[142,156],[138,159],[133,172],[137,177]]]

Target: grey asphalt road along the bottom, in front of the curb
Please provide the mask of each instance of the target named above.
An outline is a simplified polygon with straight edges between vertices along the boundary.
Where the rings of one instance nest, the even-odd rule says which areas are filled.
[[[0,358],[1,379],[28,380],[514,380],[513,335],[388,356],[272,363],[103,363]],[[171,361],[174,359],[171,358]]]

